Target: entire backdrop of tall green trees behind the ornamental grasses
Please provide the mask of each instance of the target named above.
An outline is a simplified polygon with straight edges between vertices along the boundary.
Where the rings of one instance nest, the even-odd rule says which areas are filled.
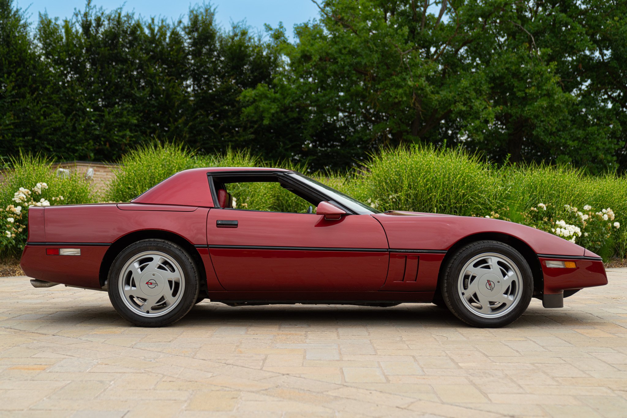
[[[171,20],[89,0],[34,26],[0,0],[0,159],[167,140],[346,170],[381,146],[461,144],[627,170],[626,1],[318,3],[290,41],[223,28],[210,3]]]

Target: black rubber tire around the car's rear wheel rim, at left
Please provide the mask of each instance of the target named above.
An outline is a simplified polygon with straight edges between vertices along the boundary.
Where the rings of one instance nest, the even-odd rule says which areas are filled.
[[[166,254],[168,258],[176,262],[181,269],[181,281],[184,281],[181,295],[177,296],[176,304],[172,303],[172,305],[176,306],[169,308],[170,310],[167,311],[167,313],[159,314],[160,316],[142,316],[137,313],[137,311],[126,305],[126,303],[129,302],[125,300],[128,299],[120,294],[119,288],[120,281],[123,280],[120,273],[122,273],[124,266],[140,254],[150,251]],[[154,274],[152,274],[152,276],[154,276]],[[196,263],[194,263],[193,259],[184,248],[170,241],[166,241],[165,239],[142,239],[123,249],[113,260],[108,274],[109,300],[113,308],[115,308],[122,318],[138,327],[165,327],[187,315],[191,308],[197,303],[200,289],[199,277],[200,274],[198,273]],[[146,284],[152,285],[152,283]],[[125,300],[123,300],[123,298],[125,298]]]

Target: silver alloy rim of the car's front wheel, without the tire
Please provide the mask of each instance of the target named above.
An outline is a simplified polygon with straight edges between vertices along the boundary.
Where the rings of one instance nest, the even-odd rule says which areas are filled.
[[[512,260],[502,254],[483,253],[461,269],[457,291],[474,315],[498,318],[518,305],[522,286],[522,275]]]

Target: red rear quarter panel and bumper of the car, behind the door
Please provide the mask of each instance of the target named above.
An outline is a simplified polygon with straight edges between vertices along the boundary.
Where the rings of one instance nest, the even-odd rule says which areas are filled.
[[[168,231],[194,245],[206,245],[203,207],[168,207],[130,204],[122,210],[115,204],[50,206],[34,211],[37,221],[29,228],[29,244],[21,266],[31,278],[65,285],[100,288],[102,259],[109,244],[142,230]],[[41,217],[41,219],[40,219]],[[43,222],[45,219],[45,222]],[[46,248],[80,248],[80,256],[46,256]]]

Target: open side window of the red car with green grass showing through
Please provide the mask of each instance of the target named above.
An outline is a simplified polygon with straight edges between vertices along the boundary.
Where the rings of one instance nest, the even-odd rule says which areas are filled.
[[[233,209],[315,213],[315,204],[297,196],[278,182],[224,182],[224,188],[233,199]]]

